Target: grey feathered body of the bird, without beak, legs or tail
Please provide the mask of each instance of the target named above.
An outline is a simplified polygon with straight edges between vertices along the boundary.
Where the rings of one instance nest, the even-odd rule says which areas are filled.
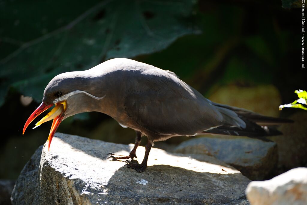
[[[62,73],[48,84],[44,96],[49,97],[53,90],[70,93],[76,87],[105,97],[97,100],[84,93],[69,97],[64,119],[80,112],[103,112],[122,125],[160,136],[192,136],[225,123],[245,126],[234,112],[225,113],[212,105],[174,73],[126,58],[115,58],[85,71]],[[229,122],[226,114],[233,115]]]

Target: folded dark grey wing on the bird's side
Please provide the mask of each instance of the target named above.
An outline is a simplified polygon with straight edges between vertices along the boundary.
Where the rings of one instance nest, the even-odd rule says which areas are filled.
[[[150,69],[134,80],[139,86],[126,96],[124,106],[128,116],[150,132],[193,135],[226,124],[244,124],[235,112],[212,105],[172,73]]]

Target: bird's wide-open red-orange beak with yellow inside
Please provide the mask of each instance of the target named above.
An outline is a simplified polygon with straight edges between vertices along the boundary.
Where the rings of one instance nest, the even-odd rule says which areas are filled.
[[[48,108],[52,107],[53,104],[46,104],[44,102],[41,103],[40,106],[38,106],[38,108],[36,108],[36,110],[30,115],[30,117],[28,118],[28,120],[25,123],[25,126],[23,128],[23,132],[22,134],[25,133],[25,129],[28,127],[28,125],[38,116],[40,115],[42,112],[44,112],[45,110],[47,110]],[[48,136],[48,150],[50,148],[50,144],[51,144],[51,140],[52,137],[54,136],[54,133],[56,132],[56,129],[59,127],[61,121],[63,120],[63,113],[66,110],[66,101],[61,101],[55,104],[56,106],[45,116],[43,117],[40,121],[38,121],[35,124],[34,128],[37,128],[38,126],[40,126],[41,124],[43,124],[44,122],[47,122],[49,120],[53,120],[52,122],[52,126],[49,132],[49,136]],[[33,128],[33,129],[34,129]]]

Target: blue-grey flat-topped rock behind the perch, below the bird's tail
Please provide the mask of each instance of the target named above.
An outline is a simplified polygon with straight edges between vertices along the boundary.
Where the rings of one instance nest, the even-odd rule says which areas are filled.
[[[274,142],[248,137],[200,137],[182,142],[173,152],[214,156],[252,180],[265,179],[278,162],[278,151]]]

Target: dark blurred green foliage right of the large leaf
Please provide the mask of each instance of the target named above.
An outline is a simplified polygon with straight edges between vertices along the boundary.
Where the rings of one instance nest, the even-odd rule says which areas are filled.
[[[136,60],[175,72],[205,96],[221,85],[283,87],[288,82],[292,87],[302,78],[298,70],[288,77],[299,37],[292,32],[294,15],[280,4],[266,8],[261,3],[200,1],[200,10],[202,34],[180,38],[168,49]]]

